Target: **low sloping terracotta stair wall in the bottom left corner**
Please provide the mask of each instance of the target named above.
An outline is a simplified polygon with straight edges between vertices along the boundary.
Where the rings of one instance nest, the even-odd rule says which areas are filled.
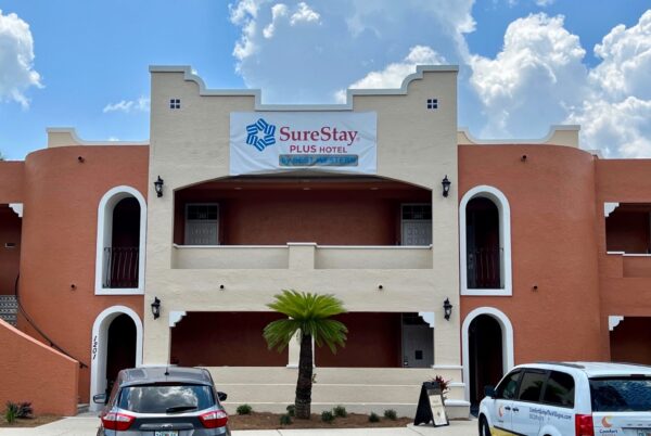
[[[0,320],[0,403],[30,401],[34,412],[77,414],[78,362]]]

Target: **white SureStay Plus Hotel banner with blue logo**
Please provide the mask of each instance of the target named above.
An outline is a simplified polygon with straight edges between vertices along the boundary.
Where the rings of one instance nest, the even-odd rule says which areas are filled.
[[[232,112],[231,176],[318,169],[376,174],[374,112]]]

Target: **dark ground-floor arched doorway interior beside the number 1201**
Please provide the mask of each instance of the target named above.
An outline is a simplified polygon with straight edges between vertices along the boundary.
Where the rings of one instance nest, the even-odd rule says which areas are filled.
[[[136,366],[136,323],[125,313],[108,325],[106,344],[106,390],[111,392],[117,373]]]

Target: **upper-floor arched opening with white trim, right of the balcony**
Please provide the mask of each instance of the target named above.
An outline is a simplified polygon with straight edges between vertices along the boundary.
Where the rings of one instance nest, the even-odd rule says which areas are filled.
[[[512,295],[511,211],[496,188],[468,191],[459,205],[461,295]]]

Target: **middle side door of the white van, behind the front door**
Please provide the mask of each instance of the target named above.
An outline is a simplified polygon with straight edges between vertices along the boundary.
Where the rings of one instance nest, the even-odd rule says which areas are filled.
[[[547,382],[547,371],[527,369],[522,374],[518,397],[512,406],[513,433],[537,435],[546,416],[547,407],[540,403],[542,387]]]

